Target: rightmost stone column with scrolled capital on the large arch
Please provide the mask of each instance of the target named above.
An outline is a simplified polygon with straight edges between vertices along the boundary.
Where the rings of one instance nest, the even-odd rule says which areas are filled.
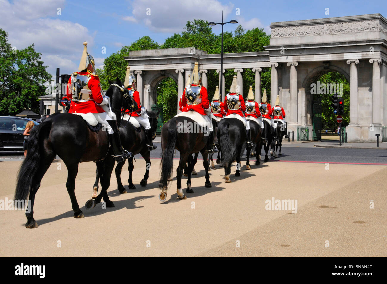
[[[380,58],[370,59],[372,63],[372,124],[380,126]]]

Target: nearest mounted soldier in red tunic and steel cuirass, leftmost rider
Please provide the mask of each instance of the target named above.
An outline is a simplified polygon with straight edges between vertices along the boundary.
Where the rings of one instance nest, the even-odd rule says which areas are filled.
[[[67,98],[71,98],[69,113],[82,114],[91,113],[95,119],[106,127],[109,134],[110,145],[113,149],[113,157],[120,163],[131,157],[124,150],[120,142],[116,117],[110,109],[110,98],[103,96],[99,77],[95,72],[94,59],[87,52],[87,42],[83,43],[83,53],[80,59],[78,72],[74,72],[67,83]]]

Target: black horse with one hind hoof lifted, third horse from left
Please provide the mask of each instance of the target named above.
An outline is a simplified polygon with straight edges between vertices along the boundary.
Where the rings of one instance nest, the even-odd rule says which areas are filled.
[[[179,199],[187,199],[182,190],[182,174],[185,164],[187,163],[187,193],[193,193],[191,188],[191,173],[194,168],[194,153],[202,153],[203,166],[205,169],[205,184],[206,188],[211,188],[210,176],[208,173],[208,153],[206,151],[208,133],[205,131],[184,131],[178,130],[181,125],[196,125],[196,122],[188,117],[178,116],[173,117],[164,124],[161,129],[161,150],[163,151],[161,157],[161,177],[159,188],[159,200],[165,201],[167,196],[168,184],[172,180],[173,170],[173,151],[176,149],[180,152],[180,161],[176,169],[177,179],[177,194]]]

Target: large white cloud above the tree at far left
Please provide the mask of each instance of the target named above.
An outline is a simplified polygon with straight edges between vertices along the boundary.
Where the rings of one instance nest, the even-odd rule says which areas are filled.
[[[61,19],[57,8],[63,9],[64,0],[0,0],[0,27],[8,33],[8,41],[17,49],[34,43],[35,50],[42,53],[46,69],[53,77],[59,67],[62,74],[77,70],[83,50],[83,41],[89,49],[94,40],[86,27]],[[60,17],[58,15],[57,17]]]

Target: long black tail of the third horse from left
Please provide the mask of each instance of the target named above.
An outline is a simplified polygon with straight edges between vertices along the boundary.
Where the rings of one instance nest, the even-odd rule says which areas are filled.
[[[163,189],[164,186],[168,186],[170,179],[172,177],[173,170],[173,151],[175,150],[176,138],[177,138],[177,129],[174,121],[168,126],[168,136],[167,136],[166,148],[163,151],[161,157],[161,177],[159,188]]]

